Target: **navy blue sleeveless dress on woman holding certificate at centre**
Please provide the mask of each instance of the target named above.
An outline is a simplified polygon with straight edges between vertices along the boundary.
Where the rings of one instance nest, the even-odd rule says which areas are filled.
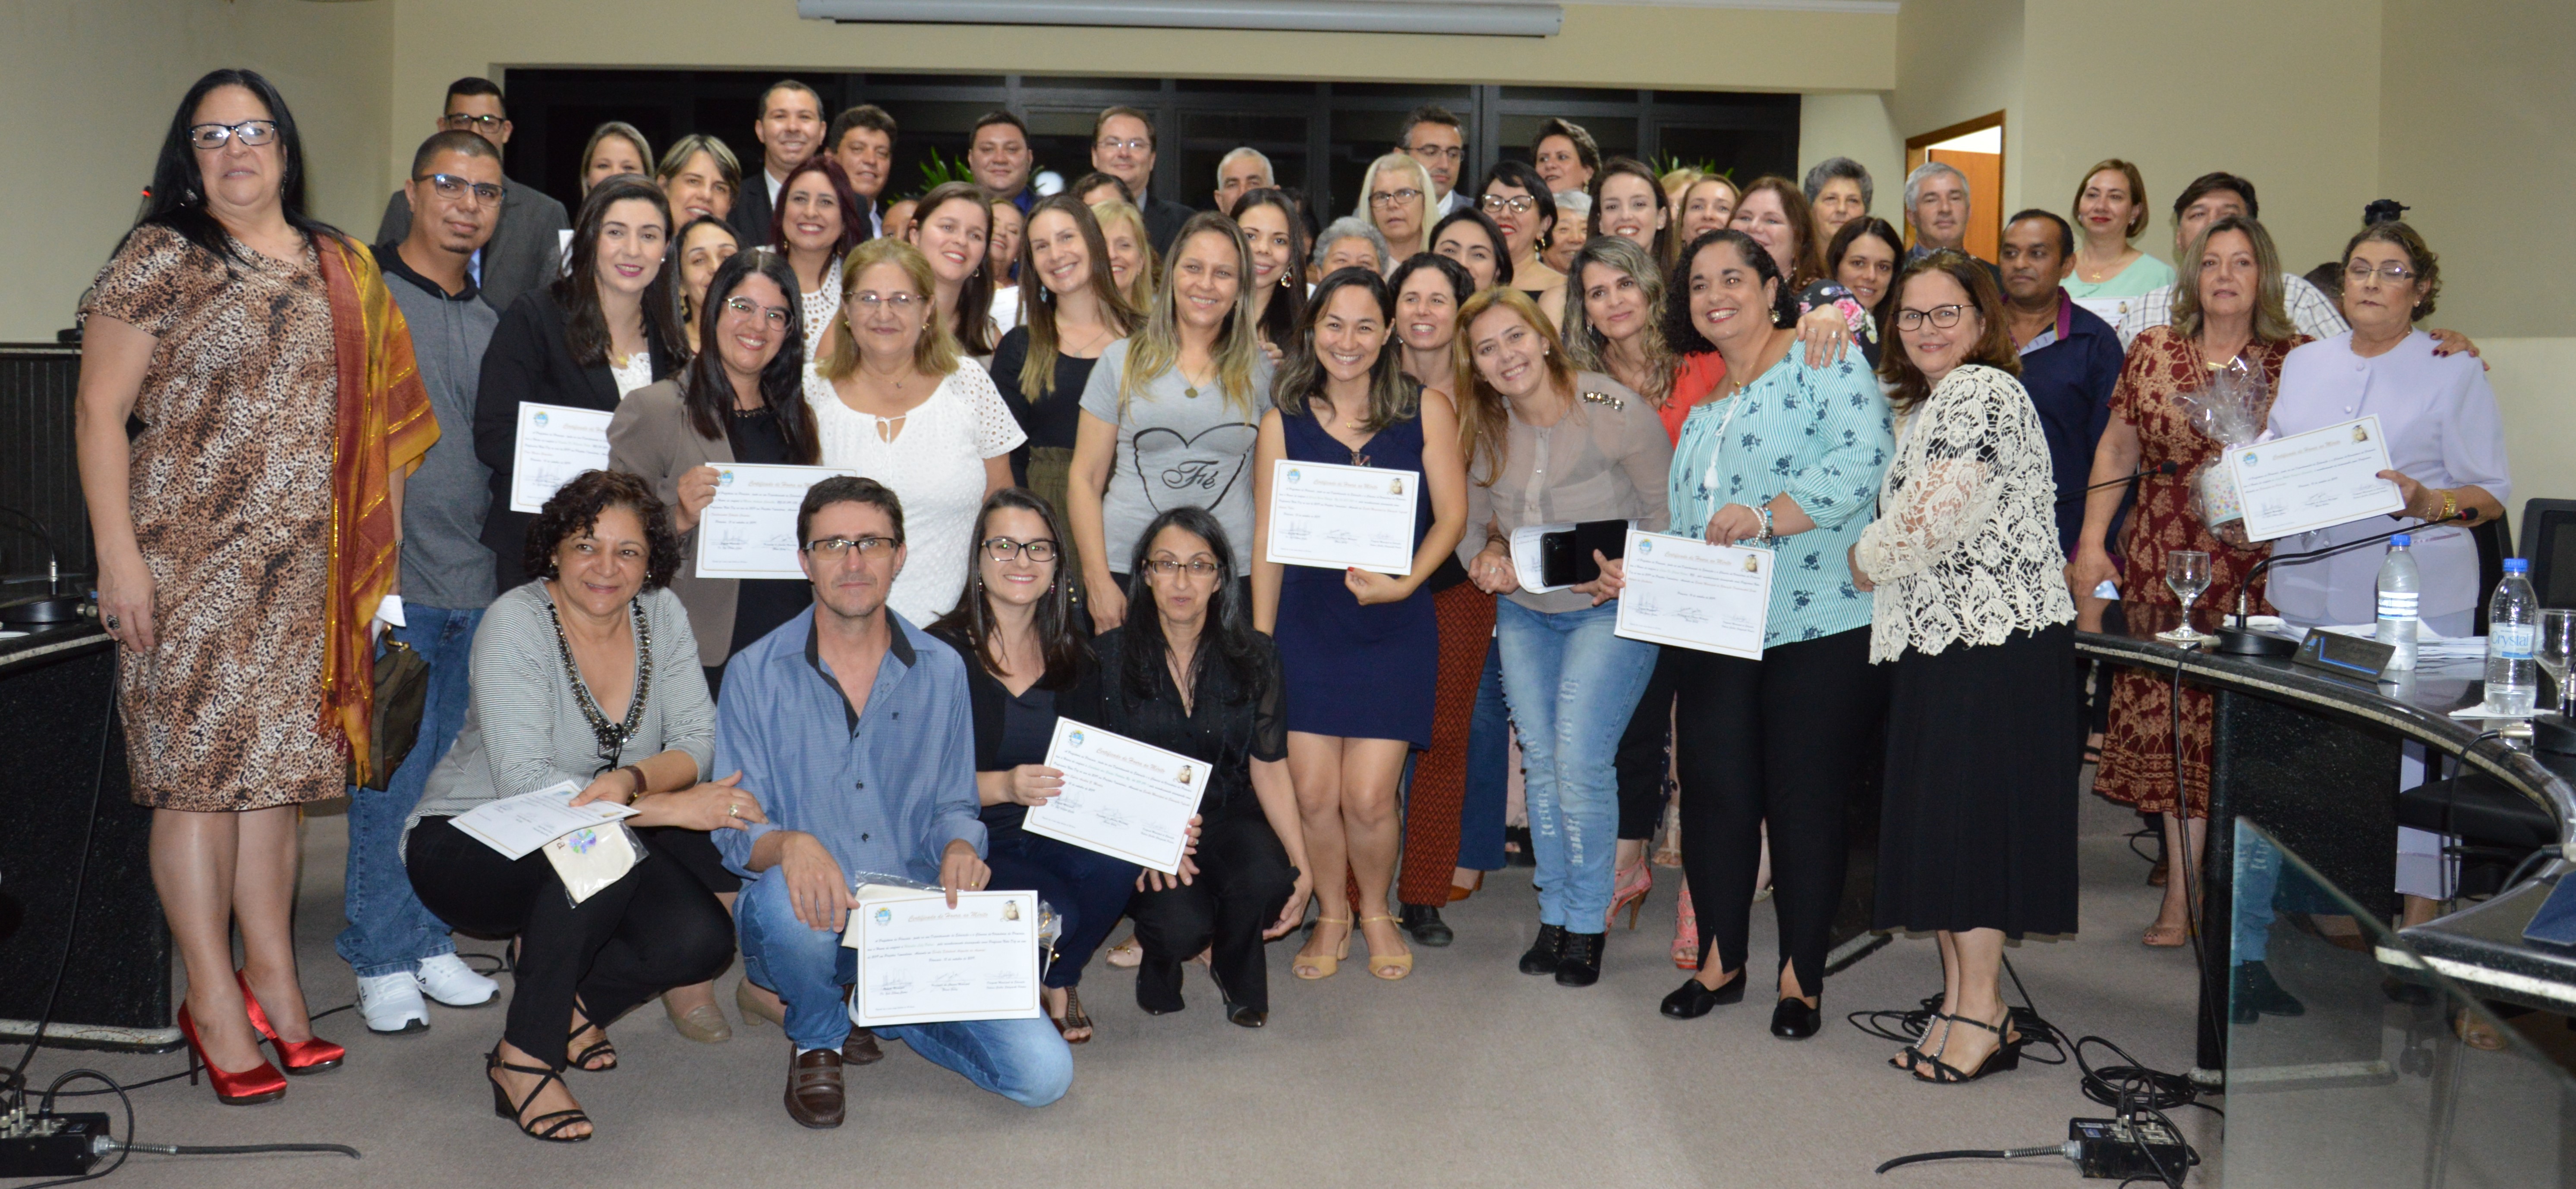
[[[1298,463],[1383,466],[1422,471],[1422,419],[1378,430],[1358,456],[1314,417],[1280,412],[1288,458]],[[1414,484],[1414,548],[1432,528],[1432,499]],[[1440,623],[1432,592],[1363,607],[1340,569],[1285,566],[1278,631],[1288,685],[1288,728],[1345,739],[1401,739],[1432,746],[1432,679],[1440,669]]]

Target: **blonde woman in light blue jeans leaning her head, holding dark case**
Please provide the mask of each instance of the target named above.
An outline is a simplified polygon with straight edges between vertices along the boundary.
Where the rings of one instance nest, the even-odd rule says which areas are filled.
[[[1512,533],[1530,525],[1633,520],[1662,533],[1672,438],[1625,383],[1574,371],[1548,317],[1520,291],[1486,288],[1458,309],[1458,378],[1468,466],[1468,579],[1494,607],[1502,690],[1520,726],[1520,757],[1538,854],[1538,942],[1528,975],[1558,986],[1600,981],[1618,826],[1613,744],[1628,726],[1654,643],[1618,636],[1620,558],[1592,551],[1597,576],[1528,592]]]

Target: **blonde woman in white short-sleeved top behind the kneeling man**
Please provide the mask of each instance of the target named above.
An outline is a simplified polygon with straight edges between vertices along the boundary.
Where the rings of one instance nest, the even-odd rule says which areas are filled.
[[[917,247],[858,244],[822,365],[804,381],[822,466],[876,479],[904,504],[907,558],[886,605],[912,625],[958,605],[974,517],[984,497],[1010,486],[1010,453],[1028,440],[992,376],[938,319],[938,286]]]

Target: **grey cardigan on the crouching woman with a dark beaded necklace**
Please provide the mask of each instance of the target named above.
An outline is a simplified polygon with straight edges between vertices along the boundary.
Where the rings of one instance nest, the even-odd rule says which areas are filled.
[[[652,633],[652,695],[618,764],[680,749],[706,775],[716,754],[716,700],[698,669],[698,638],[688,610],[667,587],[647,589],[644,628]],[[600,772],[600,746],[564,679],[564,659],[546,620],[546,584],[528,582],[492,600],[474,633],[474,695],[456,746],[430,770],[420,803],[402,818],[410,844],[420,818],[459,816],[497,798],[536,793],[572,780],[587,785]]]

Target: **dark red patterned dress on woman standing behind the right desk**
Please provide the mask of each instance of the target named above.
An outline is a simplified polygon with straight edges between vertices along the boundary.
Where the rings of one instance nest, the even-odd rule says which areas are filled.
[[[2300,342],[2308,337],[2254,342],[2239,355],[2262,373],[2267,407],[2280,383],[2280,360]],[[2177,463],[2169,476],[2138,479],[2138,507],[2130,510],[2128,528],[2120,533],[2120,605],[2130,623],[2146,623],[2148,607],[2182,605],[2164,584],[2169,551],[2197,548],[2210,556],[2210,589],[2200,592],[2192,615],[2202,631],[2218,620],[2218,607],[2236,607],[2246,571],[2272,553],[2269,546],[2228,546],[2190,512],[2192,471],[2218,456],[2218,443],[2192,427],[2187,409],[2174,404],[2174,396],[2200,389],[2208,373],[2210,368],[2192,340],[2174,335],[2174,327],[2154,327],[2128,347],[2120,386],[2110,394],[2112,417],[2138,427],[2138,466]],[[2262,579],[2254,582],[2251,610],[2272,610]],[[2143,669],[2120,669],[2110,690],[2110,731],[2102,736],[2102,770],[2094,772],[2094,793],[2146,813],[2174,811],[2172,713],[2169,679]],[[2192,685],[2182,687],[2182,777],[2190,793],[2184,816],[2210,816],[2210,695]]]

